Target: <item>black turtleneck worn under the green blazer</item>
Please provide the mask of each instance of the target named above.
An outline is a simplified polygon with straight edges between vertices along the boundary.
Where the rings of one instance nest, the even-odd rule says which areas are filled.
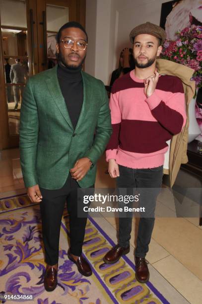
[[[76,69],[68,69],[59,63],[57,74],[68,114],[75,129],[83,104],[81,66]]]

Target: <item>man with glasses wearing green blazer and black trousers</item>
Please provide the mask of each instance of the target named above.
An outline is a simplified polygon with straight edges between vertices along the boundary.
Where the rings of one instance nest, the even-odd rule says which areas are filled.
[[[67,199],[70,226],[68,258],[78,271],[92,270],[82,256],[87,217],[77,204],[77,188],[94,187],[96,162],[112,133],[108,97],[102,81],[81,71],[87,34],[77,22],[57,36],[59,65],[31,77],[20,115],[20,161],[27,194],[40,202],[47,263],[44,286],[57,286],[59,238]]]

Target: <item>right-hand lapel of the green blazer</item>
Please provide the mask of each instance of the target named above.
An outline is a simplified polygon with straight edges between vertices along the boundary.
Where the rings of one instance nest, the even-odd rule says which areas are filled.
[[[75,127],[75,131],[85,122],[86,113],[90,107],[91,99],[92,99],[92,88],[89,83],[89,80],[86,78],[85,74],[81,72],[82,80],[83,80],[83,104],[81,107],[80,115]]]

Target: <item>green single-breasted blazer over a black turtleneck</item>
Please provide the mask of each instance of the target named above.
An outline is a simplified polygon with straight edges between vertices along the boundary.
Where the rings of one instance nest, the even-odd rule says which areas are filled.
[[[77,159],[95,164],[79,181],[95,183],[96,162],[112,133],[108,96],[101,80],[84,72],[83,104],[75,130],[57,77],[57,66],[29,79],[20,112],[20,162],[26,187],[60,189]],[[94,132],[96,135],[94,137]]]

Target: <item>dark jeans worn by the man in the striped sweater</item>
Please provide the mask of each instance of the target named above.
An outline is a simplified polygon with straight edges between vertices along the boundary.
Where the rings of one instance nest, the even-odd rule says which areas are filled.
[[[136,257],[145,257],[149,249],[151,234],[154,227],[156,198],[162,185],[163,166],[150,169],[132,169],[119,165],[120,176],[117,177],[119,193],[134,195],[134,190],[140,194],[139,206],[145,207],[145,215],[140,216],[135,248]],[[121,189],[125,188],[125,189]],[[127,189],[126,189],[127,188]],[[132,203],[127,204],[133,207]],[[119,207],[126,204],[119,202]],[[119,244],[123,247],[130,245],[133,214],[125,213],[119,218]]]

